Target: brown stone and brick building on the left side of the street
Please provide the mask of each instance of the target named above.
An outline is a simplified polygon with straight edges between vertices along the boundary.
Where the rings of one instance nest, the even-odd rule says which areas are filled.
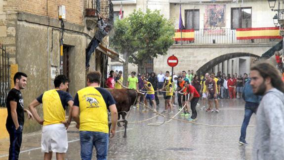
[[[10,64],[17,64],[18,71],[28,75],[27,88],[23,90],[25,108],[44,91],[54,88],[53,80],[60,74],[60,67],[71,80],[69,92],[72,96],[86,86],[85,50],[97,29],[94,27],[97,17],[85,16],[89,1],[0,0],[0,44],[9,52]],[[66,8],[63,22],[58,17],[60,5]],[[110,6],[110,0],[101,1],[105,21],[111,21],[109,8],[105,8]],[[62,32],[63,64],[60,65]],[[101,45],[108,46],[108,37]],[[101,71],[104,81],[107,56],[101,51],[93,54],[88,71]],[[39,107],[40,114],[41,110]],[[29,120],[24,128],[24,132],[32,132],[41,126]]]

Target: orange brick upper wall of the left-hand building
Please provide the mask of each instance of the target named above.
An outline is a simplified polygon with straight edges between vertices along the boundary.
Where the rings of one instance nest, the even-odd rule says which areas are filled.
[[[48,2],[46,5],[46,1]],[[70,23],[83,23],[85,0],[7,0],[5,11],[18,10],[31,14],[50,16],[58,19],[58,6],[65,5],[66,20]],[[48,10],[46,10],[46,7]]]

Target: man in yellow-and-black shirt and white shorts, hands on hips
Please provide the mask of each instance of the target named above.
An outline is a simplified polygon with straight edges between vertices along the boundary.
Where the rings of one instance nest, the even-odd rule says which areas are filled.
[[[56,153],[57,160],[64,160],[68,149],[67,128],[72,119],[73,98],[66,92],[69,79],[65,75],[58,75],[54,79],[55,89],[44,92],[34,100],[29,108],[35,119],[42,125],[41,152],[44,160],[51,160],[52,153]],[[37,113],[36,107],[42,104],[43,120]],[[65,121],[65,110],[70,106],[68,120]]]

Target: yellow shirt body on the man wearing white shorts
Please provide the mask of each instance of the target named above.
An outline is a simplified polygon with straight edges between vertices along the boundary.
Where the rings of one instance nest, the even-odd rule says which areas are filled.
[[[49,90],[42,96],[43,125],[60,124],[65,121],[65,110],[57,90]]]

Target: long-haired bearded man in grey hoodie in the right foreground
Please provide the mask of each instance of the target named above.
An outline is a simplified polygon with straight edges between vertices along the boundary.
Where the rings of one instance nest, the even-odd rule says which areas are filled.
[[[250,68],[250,85],[263,96],[257,109],[253,160],[284,160],[284,83],[276,67],[258,63]]]

